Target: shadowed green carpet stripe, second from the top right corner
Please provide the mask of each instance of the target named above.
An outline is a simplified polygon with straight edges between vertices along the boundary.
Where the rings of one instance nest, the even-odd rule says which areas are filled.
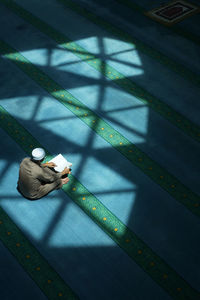
[[[152,57],[153,59],[156,59],[159,63],[171,69],[173,72],[176,72],[180,76],[184,77],[185,79],[191,81],[193,84],[200,87],[199,76],[193,73],[185,66],[181,65],[176,61],[173,61],[168,56],[162,54],[160,51],[153,49],[152,47],[148,46],[144,42],[141,42],[137,38],[132,37],[130,34],[126,33],[120,28],[117,28],[116,25],[115,26],[112,25],[111,23],[107,22],[101,17],[95,15],[94,13],[91,13],[86,8],[79,6],[77,3],[73,2],[72,0],[57,0],[57,1],[61,2],[66,7],[69,7],[71,10],[75,11],[81,16],[84,16],[85,18],[89,19],[90,21],[97,24],[98,26],[103,27],[104,29],[106,29],[116,37],[120,38],[122,41],[129,43],[133,47],[137,47],[137,50],[143,52],[149,57]]]

